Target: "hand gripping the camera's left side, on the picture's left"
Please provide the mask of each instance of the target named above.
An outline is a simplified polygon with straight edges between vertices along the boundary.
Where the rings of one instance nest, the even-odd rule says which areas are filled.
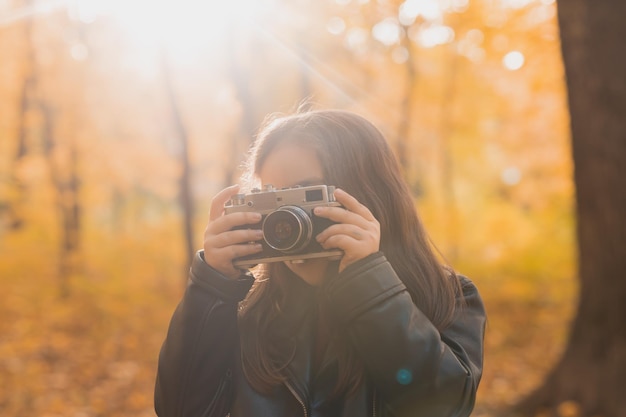
[[[224,214],[224,204],[238,192],[239,186],[232,185],[213,197],[209,223],[204,230],[204,261],[230,279],[237,279],[241,275],[241,270],[233,265],[233,259],[262,250],[261,244],[258,243],[263,238],[260,229],[232,230],[235,226],[259,223],[260,213]]]

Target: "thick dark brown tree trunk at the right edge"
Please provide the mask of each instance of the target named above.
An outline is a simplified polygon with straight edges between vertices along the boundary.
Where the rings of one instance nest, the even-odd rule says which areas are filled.
[[[626,2],[558,4],[575,166],[580,297],[561,361],[519,410],[626,416]]]

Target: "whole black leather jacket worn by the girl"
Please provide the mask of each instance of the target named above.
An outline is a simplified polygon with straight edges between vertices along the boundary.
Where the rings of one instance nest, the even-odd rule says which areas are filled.
[[[242,374],[237,330],[237,305],[250,289],[252,277],[229,280],[208,266],[199,252],[161,349],[157,414],[437,417],[471,413],[482,373],[485,311],[467,278],[461,277],[463,306],[442,332],[413,304],[382,253],[355,262],[321,289],[294,281],[300,281],[299,293],[285,306],[283,322],[273,326],[290,334],[296,344],[286,369],[288,381],[262,395]],[[365,366],[366,382],[349,397],[329,399],[337,371],[332,348],[313,369],[317,311],[313,306],[320,302]]]

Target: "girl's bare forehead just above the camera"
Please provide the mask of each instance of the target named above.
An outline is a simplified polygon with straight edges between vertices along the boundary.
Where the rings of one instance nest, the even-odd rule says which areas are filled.
[[[260,168],[259,179],[263,185],[284,188],[323,183],[324,173],[317,153],[302,145],[278,145]]]

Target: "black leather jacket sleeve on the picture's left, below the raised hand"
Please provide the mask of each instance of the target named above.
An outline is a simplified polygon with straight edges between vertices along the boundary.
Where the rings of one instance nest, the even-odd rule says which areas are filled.
[[[223,402],[224,380],[237,350],[237,307],[252,286],[230,280],[199,251],[188,286],[161,347],[154,392],[160,417],[208,416]]]

